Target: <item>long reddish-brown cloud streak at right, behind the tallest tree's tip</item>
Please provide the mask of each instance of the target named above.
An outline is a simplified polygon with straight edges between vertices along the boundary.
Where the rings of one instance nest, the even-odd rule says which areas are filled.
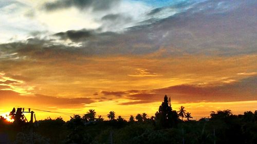
[[[172,100],[179,103],[187,102],[224,102],[256,100],[257,77],[245,78],[233,84],[221,86],[197,86],[178,85],[167,88],[139,92],[127,95],[131,102],[123,102],[120,105],[145,104],[160,101],[163,95],[168,94]]]

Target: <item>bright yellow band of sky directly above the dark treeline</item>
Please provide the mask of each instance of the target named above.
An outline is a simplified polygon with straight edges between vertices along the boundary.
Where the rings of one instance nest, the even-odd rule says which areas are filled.
[[[55,119],[57,117],[62,117],[65,121],[70,119],[70,116],[72,114],[79,114],[83,116],[83,114],[86,114],[86,112],[89,109],[94,109],[96,113],[96,117],[98,115],[101,115],[105,120],[108,120],[106,115],[109,111],[114,111],[116,117],[119,115],[123,116],[125,119],[128,119],[130,115],[134,115],[134,117],[139,113],[146,113],[148,114],[148,117],[154,116],[156,111],[158,111],[159,106],[161,105],[160,102],[152,102],[150,104],[139,104],[134,106],[119,106],[115,104],[115,101],[106,101],[106,102],[99,102],[99,106],[96,107],[96,104],[92,104],[91,106],[87,106],[83,109],[55,109],[52,110],[52,112],[63,112],[67,114],[62,113],[49,113],[49,112],[42,112],[38,110],[33,110],[36,115],[36,120],[43,120],[48,117]],[[252,111],[254,112],[256,109],[257,100],[252,101],[232,101],[232,102],[195,102],[195,103],[185,103],[185,104],[178,104],[174,103],[172,104],[173,110],[178,111],[180,106],[185,107],[187,112],[190,112],[192,117],[195,119],[200,119],[200,117],[209,117],[211,111],[217,111],[217,110],[226,110],[230,109],[233,114],[243,114],[246,111]],[[11,108],[9,109],[11,110]],[[3,111],[3,110],[2,110]],[[8,110],[6,110],[8,111]],[[0,114],[3,117],[7,118],[8,121],[13,121],[13,119],[10,119],[8,112]],[[30,115],[26,115],[26,117],[30,118]]]

